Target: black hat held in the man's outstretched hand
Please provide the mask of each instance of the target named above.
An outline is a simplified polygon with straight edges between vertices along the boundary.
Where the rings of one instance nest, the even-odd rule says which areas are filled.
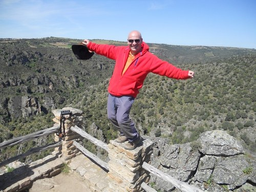
[[[72,51],[76,58],[81,60],[90,59],[94,54],[94,52],[89,51],[88,47],[83,44],[72,45]]]

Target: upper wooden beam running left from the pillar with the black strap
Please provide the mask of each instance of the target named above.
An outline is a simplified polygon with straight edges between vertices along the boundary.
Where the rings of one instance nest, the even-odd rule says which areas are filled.
[[[58,129],[59,129],[59,126],[53,126],[53,127],[48,128],[46,130],[41,130],[41,131],[31,133],[29,135],[25,135],[25,136],[22,136],[22,137],[16,137],[16,138],[13,138],[13,139],[10,139],[8,141],[4,141],[4,142],[0,143],[0,148],[7,147],[7,146],[13,146],[13,145],[16,145],[16,144],[19,144],[19,143],[23,143],[25,141],[30,141],[30,140],[33,140],[33,139],[37,139],[39,137],[44,137],[44,136],[50,135],[52,133],[57,133]]]

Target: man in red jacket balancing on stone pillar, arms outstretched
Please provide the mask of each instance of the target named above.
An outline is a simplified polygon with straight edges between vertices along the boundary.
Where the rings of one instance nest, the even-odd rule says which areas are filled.
[[[150,53],[139,31],[129,33],[128,46],[98,45],[88,39],[82,43],[90,51],[116,61],[108,88],[108,118],[120,132],[116,141],[128,141],[124,143],[124,148],[133,150],[141,137],[129,114],[147,74],[152,72],[169,78],[188,79],[193,78],[194,72],[176,68]]]

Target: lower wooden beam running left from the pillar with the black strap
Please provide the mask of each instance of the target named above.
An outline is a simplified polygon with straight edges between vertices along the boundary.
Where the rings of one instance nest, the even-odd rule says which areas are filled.
[[[51,143],[51,144],[48,144],[48,145],[45,145],[45,146],[31,148],[29,151],[27,151],[23,154],[17,155],[15,157],[12,157],[10,159],[7,159],[7,160],[3,161],[2,163],[0,163],[0,167],[5,166],[5,165],[7,165],[7,164],[9,164],[13,161],[16,161],[16,160],[20,159],[20,158],[27,157],[27,156],[29,156],[33,153],[43,152],[43,151],[49,150],[49,148],[58,147],[58,146],[61,146],[61,145],[62,145],[62,142],[59,141],[57,143]]]

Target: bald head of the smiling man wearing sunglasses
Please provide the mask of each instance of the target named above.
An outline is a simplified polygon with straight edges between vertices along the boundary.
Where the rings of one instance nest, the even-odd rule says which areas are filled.
[[[137,54],[141,51],[142,37],[139,31],[132,31],[128,35],[127,44],[129,45],[132,54]]]

